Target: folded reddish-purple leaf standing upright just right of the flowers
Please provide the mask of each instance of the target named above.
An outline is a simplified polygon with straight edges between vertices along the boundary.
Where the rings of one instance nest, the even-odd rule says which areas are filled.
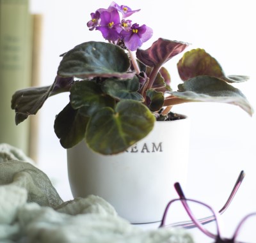
[[[186,47],[188,43],[159,38],[147,50],[138,49],[136,56],[142,63],[154,68],[154,66],[162,66]]]

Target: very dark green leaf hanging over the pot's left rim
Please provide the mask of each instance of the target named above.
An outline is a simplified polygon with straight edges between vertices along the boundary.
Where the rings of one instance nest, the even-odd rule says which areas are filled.
[[[54,131],[65,149],[83,140],[88,120],[89,117],[81,115],[79,110],[74,110],[70,103],[56,116]]]

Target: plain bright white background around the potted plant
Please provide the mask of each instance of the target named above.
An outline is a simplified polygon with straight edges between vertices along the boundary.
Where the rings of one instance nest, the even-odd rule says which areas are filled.
[[[51,85],[60,54],[84,41],[104,41],[99,31],[89,31],[86,22],[97,8],[108,8],[111,1],[44,0],[31,1],[31,11],[42,13],[42,85]],[[248,75],[251,79],[237,84],[256,108],[255,96],[255,6],[253,0],[180,0],[116,1],[141,11],[131,16],[138,24],[154,29],[148,48],[159,37],[191,43],[214,56],[227,75]],[[176,64],[182,54],[166,64],[172,87],[180,83]],[[66,152],[54,134],[54,117],[68,103],[68,94],[49,98],[40,116],[38,163],[49,175],[63,200],[71,199],[68,188]],[[175,112],[191,119],[191,149],[188,186],[190,198],[220,208],[229,195],[240,170],[246,172],[241,189],[223,219],[230,235],[239,219],[256,211],[256,122],[232,105],[188,103]],[[182,148],[180,148],[182,152]]]

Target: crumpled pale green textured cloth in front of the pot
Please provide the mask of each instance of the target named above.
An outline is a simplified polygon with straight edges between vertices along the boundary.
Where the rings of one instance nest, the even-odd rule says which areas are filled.
[[[32,163],[22,151],[0,144],[1,243],[193,242],[185,230],[131,225],[99,196],[63,202]]]

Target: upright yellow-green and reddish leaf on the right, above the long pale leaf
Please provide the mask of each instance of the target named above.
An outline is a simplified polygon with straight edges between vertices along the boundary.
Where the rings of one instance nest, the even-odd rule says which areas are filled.
[[[232,75],[226,77],[220,64],[204,49],[193,49],[186,52],[177,64],[180,78],[183,81],[196,76],[207,75],[219,78],[228,83],[243,82],[246,76]]]

